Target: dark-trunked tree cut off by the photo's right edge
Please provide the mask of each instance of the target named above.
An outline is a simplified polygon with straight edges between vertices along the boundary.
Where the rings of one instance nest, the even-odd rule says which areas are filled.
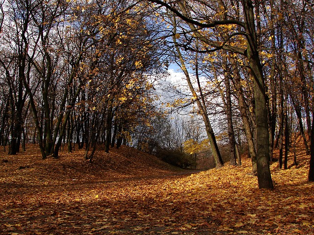
[[[305,113],[305,122],[310,142],[310,169],[309,181],[314,181],[314,142],[313,142],[313,5],[309,1],[284,1],[284,9],[289,9],[295,14],[283,12],[283,21],[287,25],[285,36],[287,38],[286,68],[291,74],[289,94],[299,119],[300,131],[303,136],[305,147],[306,137],[303,131],[301,113]],[[296,17],[298,16],[298,17]],[[311,39],[312,38],[312,39]],[[288,62],[289,61],[289,62]],[[312,117],[311,117],[312,116]],[[311,121],[312,118],[312,121]]]

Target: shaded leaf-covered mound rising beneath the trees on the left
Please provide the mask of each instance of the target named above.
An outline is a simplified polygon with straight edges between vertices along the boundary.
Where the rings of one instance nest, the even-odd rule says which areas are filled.
[[[98,150],[93,162],[84,160],[84,150],[61,152],[59,159],[41,159],[37,145],[26,152],[9,156],[0,151],[0,182],[71,183],[73,181],[114,181],[131,178],[160,177],[184,174],[184,170],[164,163],[156,156],[128,146],[111,148],[109,153]],[[37,182],[38,181],[38,182]]]

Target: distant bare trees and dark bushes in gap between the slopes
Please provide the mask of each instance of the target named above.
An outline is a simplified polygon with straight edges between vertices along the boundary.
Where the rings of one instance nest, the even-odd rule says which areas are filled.
[[[193,146],[186,148],[186,145],[204,140],[203,128],[198,119],[190,116],[181,118],[179,115],[157,115],[150,123],[149,131],[140,133],[141,138],[133,138],[140,140],[134,143],[139,150],[155,154],[163,161],[180,167],[197,166],[198,151],[194,154],[188,150]]]

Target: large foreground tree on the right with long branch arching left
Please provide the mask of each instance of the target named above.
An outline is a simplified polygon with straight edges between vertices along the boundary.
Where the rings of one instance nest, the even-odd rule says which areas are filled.
[[[166,7],[180,17],[190,30],[193,32],[193,37],[197,37],[205,45],[212,48],[209,50],[224,49],[230,52],[234,52],[240,55],[246,56],[250,71],[254,78],[254,94],[255,94],[255,104],[256,104],[256,132],[257,132],[257,173],[258,182],[260,188],[273,188],[271,174],[269,169],[269,133],[268,133],[268,117],[267,117],[267,102],[266,102],[266,92],[265,92],[265,80],[262,72],[262,64],[259,55],[259,44],[256,32],[256,24],[254,18],[254,8],[258,7],[259,4],[253,5],[251,0],[242,0],[242,14],[243,18],[240,20],[228,19],[228,20],[214,20],[212,16],[206,16],[204,18],[204,11],[197,11],[197,5],[206,7],[207,5],[203,2],[196,1],[180,1],[175,3],[175,5],[167,4],[161,0],[151,0],[161,6]],[[191,7],[193,5],[193,7]],[[177,6],[178,8],[176,8]],[[179,10],[181,12],[179,12]],[[193,18],[188,12],[193,12]],[[212,11],[209,11],[212,12]],[[219,11],[217,12],[219,13]],[[197,18],[198,17],[198,18]],[[203,23],[204,22],[204,23]],[[212,40],[209,36],[206,36],[207,32],[202,29],[213,31],[213,29],[218,29],[218,26],[231,26],[237,30],[235,33],[231,34],[227,40],[236,37],[238,35],[245,36],[245,45],[242,47],[235,47],[228,45],[225,41],[223,43]],[[233,26],[235,25],[235,26]],[[200,28],[197,28],[200,27]],[[186,35],[187,32],[182,32]],[[244,48],[243,48],[244,47]]]

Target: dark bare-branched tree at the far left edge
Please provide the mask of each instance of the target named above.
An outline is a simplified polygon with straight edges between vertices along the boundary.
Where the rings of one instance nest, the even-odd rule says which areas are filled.
[[[7,3],[7,2],[6,2]],[[11,142],[9,154],[16,154],[20,150],[21,135],[26,114],[24,105],[27,92],[24,89],[24,80],[30,75],[31,66],[28,63],[27,51],[32,38],[30,27],[30,9],[28,4],[21,1],[11,1],[5,5],[8,14],[1,21],[3,54],[0,65],[5,71],[9,88],[11,114]],[[3,23],[3,24],[2,24]]]

